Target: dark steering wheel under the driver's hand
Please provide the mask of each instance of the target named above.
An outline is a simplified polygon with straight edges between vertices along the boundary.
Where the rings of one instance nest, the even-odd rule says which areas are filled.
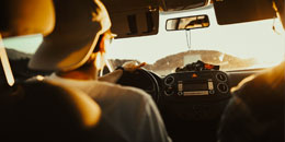
[[[134,86],[144,90],[146,93],[151,95],[153,100],[158,103],[159,100],[159,84],[153,74],[146,69],[137,69],[133,72],[125,71],[117,84],[125,86]]]

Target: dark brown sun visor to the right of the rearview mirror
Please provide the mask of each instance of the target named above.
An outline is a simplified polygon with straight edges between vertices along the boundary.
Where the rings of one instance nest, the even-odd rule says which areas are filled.
[[[275,17],[271,0],[214,0],[219,25]]]

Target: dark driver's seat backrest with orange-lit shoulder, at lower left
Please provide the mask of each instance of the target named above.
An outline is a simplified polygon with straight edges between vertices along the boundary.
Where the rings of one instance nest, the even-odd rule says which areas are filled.
[[[0,141],[94,141],[100,108],[86,94],[39,80],[0,90]]]

